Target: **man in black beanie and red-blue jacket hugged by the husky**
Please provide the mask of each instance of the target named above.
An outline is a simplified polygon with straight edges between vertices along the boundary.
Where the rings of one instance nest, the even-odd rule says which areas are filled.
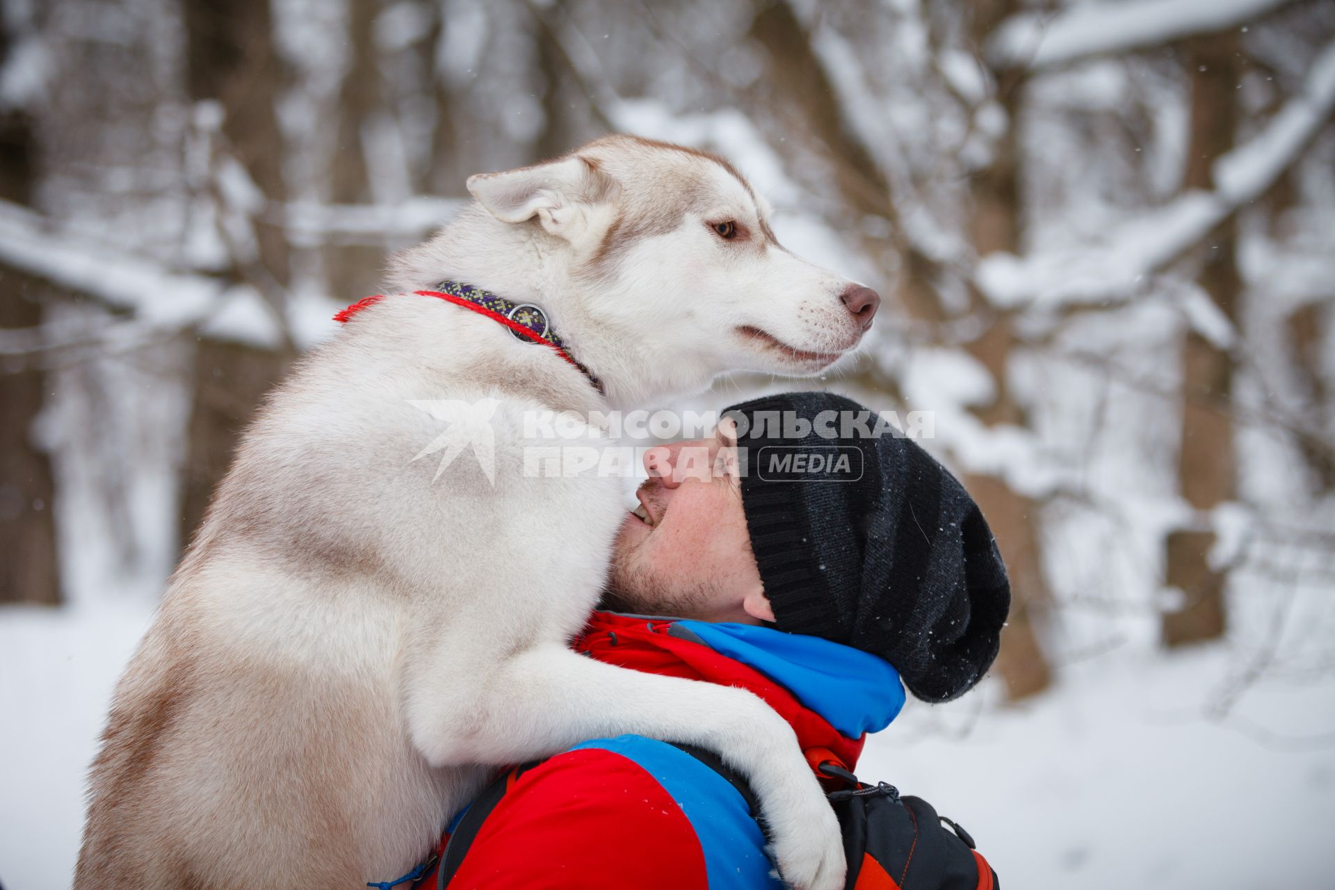
[[[575,648],[748,689],[813,769],[852,769],[904,705],[901,681],[944,702],[983,677],[1005,568],[960,483],[913,442],[873,435],[862,406],[797,392],[728,416],[712,439],[645,455],[605,596],[618,611],[595,612]],[[741,791],[702,761],[594,739],[513,778],[449,886],[778,887],[764,846]]]

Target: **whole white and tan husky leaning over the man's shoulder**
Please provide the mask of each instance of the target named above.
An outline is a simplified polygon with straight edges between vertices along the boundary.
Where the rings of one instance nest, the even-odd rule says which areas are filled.
[[[522,452],[551,444],[529,411],[587,416],[729,368],[820,372],[857,346],[874,292],[781,247],[746,180],[689,148],[610,136],[467,185],[477,200],[392,260],[394,290],[242,439],[116,687],[80,890],[388,879],[497,765],[622,733],[718,751],[756,789],[785,879],[842,886],[834,814],[777,714],[567,648],[622,484],[526,474]],[[413,294],[442,279],[539,306],[601,387]],[[442,432],[419,400],[487,408]],[[415,459],[431,447],[462,454]]]

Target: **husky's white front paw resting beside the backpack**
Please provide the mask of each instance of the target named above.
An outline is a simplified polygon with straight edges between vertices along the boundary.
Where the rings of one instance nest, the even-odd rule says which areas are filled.
[[[808,774],[810,777],[810,774]],[[820,786],[766,818],[780,877],[794,890],[842,890],[848,865],[838,819]],[[814,795],[813,795],[814,790]]]

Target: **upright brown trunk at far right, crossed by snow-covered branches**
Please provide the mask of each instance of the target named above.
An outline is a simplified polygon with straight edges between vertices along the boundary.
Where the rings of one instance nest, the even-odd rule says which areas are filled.
[[[1239,39],[1236,32],[1193,37],[1185,44],[1191,76],[1191,135],[1183,189],[1215,188],[1212,167],[1234,147],[1238,129]],[[1197,279],[1218,310],[1234,323],[1242,278],[1238,271],[1238,231],[1224,221],[1204,246]],[[1193,330],[1183,339],[1183,414],[1177,478],[1183,499],[1208,511],[1232,499],[1235,480],[1234,428],[1228,414],[1232,359]],[[1208,564],[1215,535],[1180,528],[1165,542],[1165,582],[1185,594],[1177,610],[1163,616],[1168,646],[1214,639],[1226,626],[1224,582]]]

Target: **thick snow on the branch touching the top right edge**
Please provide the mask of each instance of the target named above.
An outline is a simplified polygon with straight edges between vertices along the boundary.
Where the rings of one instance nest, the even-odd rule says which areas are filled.
[[[993,32],[987,52],[1000,67],[1049,68],[1224,31],[1255,21],[1290,1],[1132,0],[1084,3],[1055,15],[1020,13]]]

